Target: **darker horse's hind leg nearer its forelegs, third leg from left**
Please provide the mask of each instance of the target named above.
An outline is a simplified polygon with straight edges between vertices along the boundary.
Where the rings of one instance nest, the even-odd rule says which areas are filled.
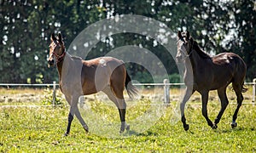
[[[221,116],[223,115],[225,109],[227,108],[227,105],[229,105],[229,100],[228,100],[227,94],[226,94],[226,87],[218,89],[218,97],[221,101],[221,109],[218,112],[218,116],[216,117],[216,119],[214,121],[215,127],[217,127],[217,124],[220,121]]]

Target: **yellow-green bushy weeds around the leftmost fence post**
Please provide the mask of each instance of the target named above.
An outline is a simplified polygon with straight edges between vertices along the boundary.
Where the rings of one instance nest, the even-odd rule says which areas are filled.
[[[43,105],[53,105],[53,90],[52,88],[44,89],[44,98],[41,99]],[[55,90],[55,105],[66,104],[66,99],[63,99],[59,90]]]

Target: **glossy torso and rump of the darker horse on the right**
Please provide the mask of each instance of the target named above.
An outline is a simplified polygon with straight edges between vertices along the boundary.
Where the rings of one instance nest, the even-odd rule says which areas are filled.
[[[241,57],[234,53],[222,53],[206,60],[203,70],[194,74],[195,90],[208,88],[215,90],[224,88],[230,82],[243,82],[246,75],[246,65]]]

